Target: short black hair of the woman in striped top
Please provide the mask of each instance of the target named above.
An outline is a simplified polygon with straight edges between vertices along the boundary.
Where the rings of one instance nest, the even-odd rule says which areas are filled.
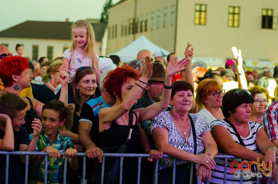
[[[234,113],[235,108],[241,104],[253,104],[254,98],[252,95],[249,95],[247,92],[243,92],[242,95],[236,93],[237,89],[231,89],[225,93],[222,100],[222,112],[224,117],[229,117],[231,113]]]

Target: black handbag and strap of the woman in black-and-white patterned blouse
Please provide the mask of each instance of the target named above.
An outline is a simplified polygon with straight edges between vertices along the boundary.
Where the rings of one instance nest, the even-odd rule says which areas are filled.
[[[192,117],[188,114],[190,119],[191,127],[192,127],[192,134],[194,140],[194,154],[197,153],[197,140],[196,140],[196,132],[195,126],[192,120]],[[189,183],[190,179],[190,166],[191,162],[184,163],[180,165],[176,165],[176,177],[175,183]],[[196,164],[193,163],[193,174],[192,174],[192,183],[197,183],[197,176],[196,176]],[[158,171],[158,183],[172,183],[173,179],[173,167],[161,169]]]

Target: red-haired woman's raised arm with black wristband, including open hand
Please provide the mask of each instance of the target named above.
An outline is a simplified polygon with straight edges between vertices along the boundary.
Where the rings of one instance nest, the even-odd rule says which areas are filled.
[[[173,64],[173,60],[169,62],[166,68],[166,75],[165,75],[165,82],[164,86],[171,87],[172,82],[171,79],[175,73],[178,73],[184,70],[184,66],[189,63],[189,59],[183,58],[179,62]],[[160,102],[156,102],[147,106],[145,108],[138,108],[133,110],[138,115],[138,121],[145,122],[149,119],[152,119],[159,113],[161,113],[165,108],[169,106],[171,97],[171,88],[166,89],[164,88],[162,91],[162,96]]]

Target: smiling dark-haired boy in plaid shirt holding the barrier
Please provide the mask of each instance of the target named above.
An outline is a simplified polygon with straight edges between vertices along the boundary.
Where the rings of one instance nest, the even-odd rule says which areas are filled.
[[[37,142],[36,151],[47,152],[48,167],[47,167],[47,183],[63,183],[63,170],[65,159],[61,159],[60,152],[64,152],[69,158],[69,164],[73,170],[79,168],[79,161],[75,156],[77,150],[74,149],[73,143],[69,137],[60,135],[59,126],[65,123],[67,116],[67,107],[59,100],[52,100],[43,106],[42,110],[42,125],[43,130]],[[33,134],[30,134],[29,139],[32,139]],[[30,184],[44,183],[45,176],[45,156],[35,156],[32,159],[34,165]]]

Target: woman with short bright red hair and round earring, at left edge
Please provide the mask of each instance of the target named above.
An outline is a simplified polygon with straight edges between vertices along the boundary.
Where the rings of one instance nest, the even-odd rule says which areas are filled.
[[[0,62],[0,78],[4,84],[4,89],[1,92],[11,92],[19,95],[20,91],[31,87],[32,74],[29,73],[29,63],[27,58],[22,58],[21,56],[11,56],[4,57]],[[67,105],[67,81],[68,74],[67,70],[62,67],[60,71],[60,80],[63,89],[63,95],[60,95],[59,100]],[[28,104],[25,115],[25,127],[29,134],[33,133],[32,121],[34,118],[41,119],[41,112],[43,103],[32,97],[22,97],[23,100]]]

